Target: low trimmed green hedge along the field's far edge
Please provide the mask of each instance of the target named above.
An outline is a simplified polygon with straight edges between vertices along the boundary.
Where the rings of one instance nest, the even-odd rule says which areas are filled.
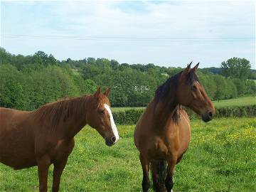
[[[218,117],[256,117],[256,105],[242,107],[221,107],[216,108],[215,118]],[[113,112],[114,121],[117,124],[136,124],[144,110],[125,110]],[[186,109],[191,119],[198,118],[195,112]]]

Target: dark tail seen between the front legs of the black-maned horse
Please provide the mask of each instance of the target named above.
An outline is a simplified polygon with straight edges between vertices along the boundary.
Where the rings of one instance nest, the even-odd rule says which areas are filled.
[[[151,162],[151,174],[154,191],[164,192],[167,175],[167,161],[159,160]]]

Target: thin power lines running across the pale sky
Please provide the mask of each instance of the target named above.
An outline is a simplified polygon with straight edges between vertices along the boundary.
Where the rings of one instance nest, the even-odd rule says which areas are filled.
[[[203,37],[125,37],[125,36],[52,36],[52,35],[21,35],[1,34],[3,38],[35,38],[35,39],[56,39],[56,40],[112,40],[112,41],[254,41],[255,38],[203,38]]]

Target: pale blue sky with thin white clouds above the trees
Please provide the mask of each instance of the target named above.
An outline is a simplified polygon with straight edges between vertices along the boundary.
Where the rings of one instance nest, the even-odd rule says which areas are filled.
[[[0,1],[0,46],[58,60],[255,67],[255,1]]]

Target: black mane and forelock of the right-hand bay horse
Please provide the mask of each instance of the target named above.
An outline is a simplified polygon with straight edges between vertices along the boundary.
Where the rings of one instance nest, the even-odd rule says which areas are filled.
[[[163,102],[166,109],[170,109],[169,113],[171,113],[171,118],[174,122],[177,122],[180,117],[180,112],[182,110],[182,106],[178,104],[176,92],[178,89],[178,80],[181,78],[181,73],[177,73],[174,76],[171,76],[166,82],[160,85],[156,92],[154,101],[156,104],[158,102]],[[189,72],[186,76],[186,82],[190,85],[194,80],[198,80],[195,73]]]

